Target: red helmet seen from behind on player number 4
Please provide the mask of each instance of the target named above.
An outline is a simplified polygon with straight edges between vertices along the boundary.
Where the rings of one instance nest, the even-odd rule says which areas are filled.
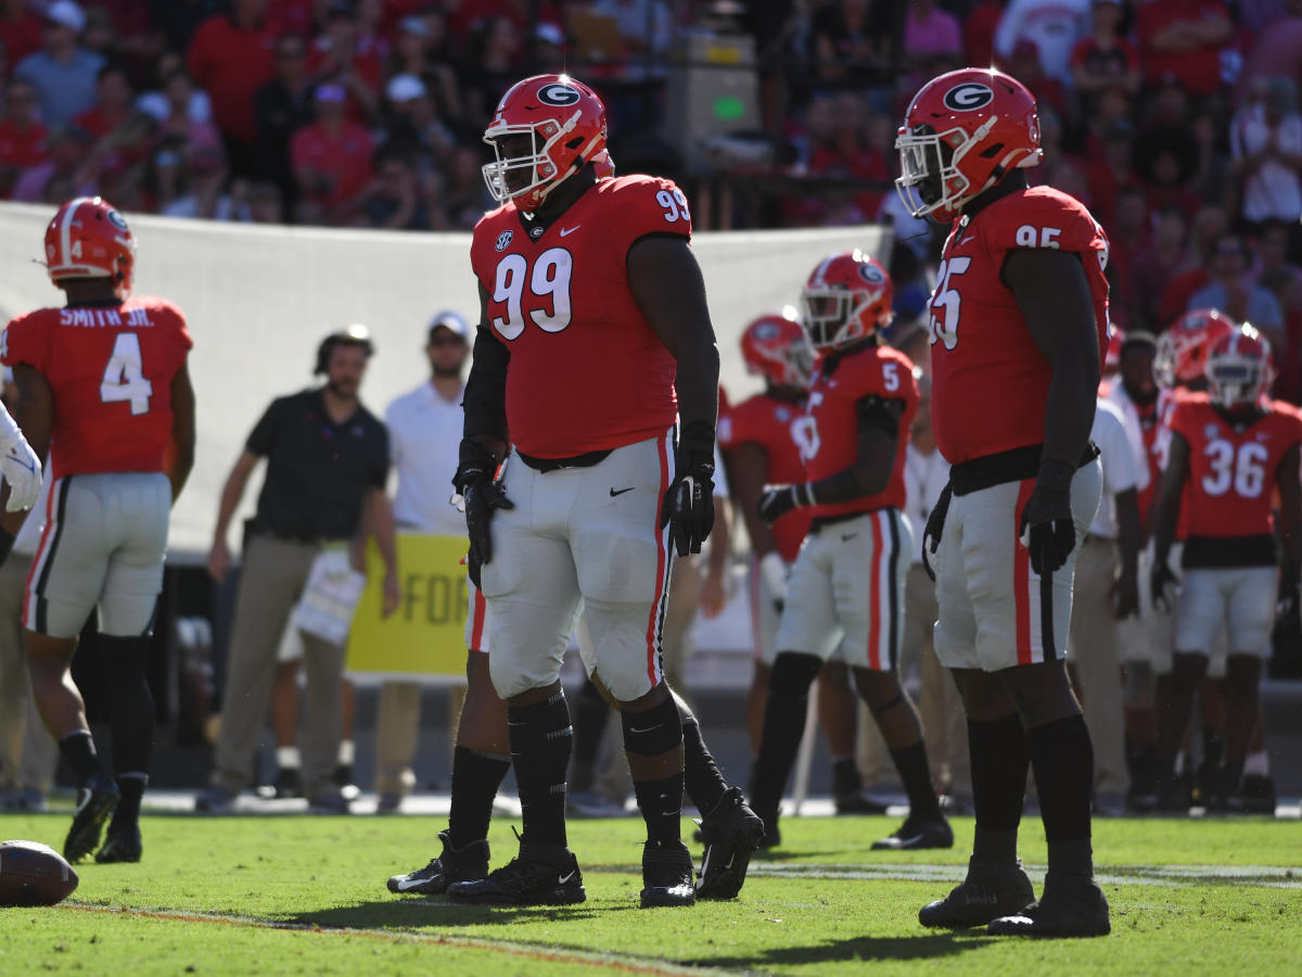
[[[46,270],[56,285],[68,279],[117,281],[117,294],[132,289],[135,238],[113,205],[100,197],[68,201],[46,228]]]

